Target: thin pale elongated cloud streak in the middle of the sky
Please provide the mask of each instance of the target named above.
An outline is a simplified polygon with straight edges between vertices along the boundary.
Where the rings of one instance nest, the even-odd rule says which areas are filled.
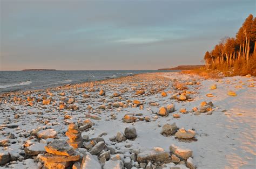
[[[126,38],[114,40],[114,43],[123,43],[123,44],[150,44],[160,41],[160,39],[156,38]]]

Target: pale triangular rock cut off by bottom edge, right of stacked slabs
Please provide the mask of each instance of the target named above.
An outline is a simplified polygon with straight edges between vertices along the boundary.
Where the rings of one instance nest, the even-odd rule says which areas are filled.
[[[81,168],[80,169],[102,169],[102,166],[99,164],[98,159],[93,158],[93,156],[86,152],[86,156],[84,156]]]

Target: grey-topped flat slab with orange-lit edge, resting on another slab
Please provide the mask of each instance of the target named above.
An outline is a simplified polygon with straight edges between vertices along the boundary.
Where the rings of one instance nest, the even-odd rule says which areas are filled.
[[[45,150],[48,153],[62,156],[71,156],[73,153],[75,153],[73,147],[70,146],[65,140],[54,140],[45,146]]]

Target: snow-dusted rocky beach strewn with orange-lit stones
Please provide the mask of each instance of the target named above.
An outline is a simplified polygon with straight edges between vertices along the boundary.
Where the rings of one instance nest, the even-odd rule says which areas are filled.
[[[0,95],[0,168],[255,168],[255,77],[146,73]]]

